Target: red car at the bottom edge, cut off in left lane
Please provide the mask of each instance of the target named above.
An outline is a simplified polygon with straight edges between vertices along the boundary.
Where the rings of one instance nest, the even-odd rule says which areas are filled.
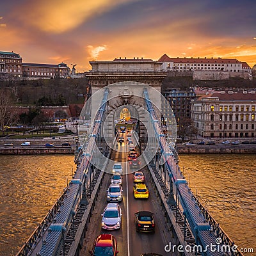
[[[111,234],[100,234],[95,239],[92,251],[89,253],[93,256],[116,256],[118,251],[115,237]]]

